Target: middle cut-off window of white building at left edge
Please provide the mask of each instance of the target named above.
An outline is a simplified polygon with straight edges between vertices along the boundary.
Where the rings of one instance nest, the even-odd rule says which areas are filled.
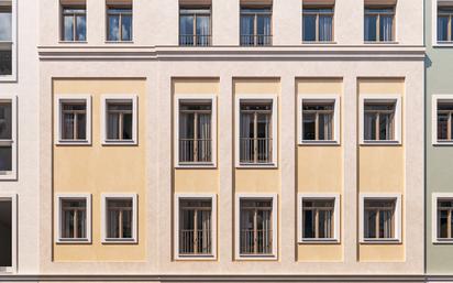
[[[15,97],[0,97],[0,179],[16,175]]]

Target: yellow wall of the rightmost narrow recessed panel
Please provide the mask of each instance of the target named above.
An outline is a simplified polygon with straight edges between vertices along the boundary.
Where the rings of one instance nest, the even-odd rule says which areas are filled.
[[[360,79],[358,97],[362,95],[400,95],[401,117],[405,117],[405,79]],[[405,119],[401,119],[401,132],[406,131]],[[398,193],[402,195],[402,219],[405,219],[405,139],[401,145],[360,145],[358,146],[358,192]],[[401,222],[402,235],[406,221]],[[361,261],[404,261],[406,242],[396,244],[358,244]]]

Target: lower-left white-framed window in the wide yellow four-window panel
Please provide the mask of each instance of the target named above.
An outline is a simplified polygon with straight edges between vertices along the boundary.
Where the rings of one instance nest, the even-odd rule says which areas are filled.
[[[91,242],[91,195],[57,195],[57,242]]]

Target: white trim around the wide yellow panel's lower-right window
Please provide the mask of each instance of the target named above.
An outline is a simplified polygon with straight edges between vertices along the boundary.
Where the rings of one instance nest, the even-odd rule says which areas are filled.
[[[107,199],[131,198],[132,199],[132,238],[117,239],[107,238]],[[136,194],[101,194],[101,242],[102,243],[137,243],[137,195]]]

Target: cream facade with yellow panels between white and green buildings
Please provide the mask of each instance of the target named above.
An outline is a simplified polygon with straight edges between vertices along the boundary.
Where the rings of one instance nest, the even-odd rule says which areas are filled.
[[[423,1],[35,11],[38,270],[2,279],[424,280]]]

